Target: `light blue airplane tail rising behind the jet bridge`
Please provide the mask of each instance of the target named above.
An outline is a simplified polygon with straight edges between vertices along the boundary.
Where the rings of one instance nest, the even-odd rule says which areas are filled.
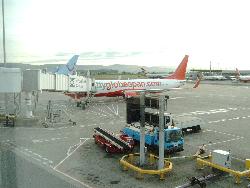
[[[74,55],[66,65],[60,65],[57,67],[57,70],[53,73],[56,74],[64,74],[64,75],[72,75],[76,71],[76,63],[78,60],[79,55]]]

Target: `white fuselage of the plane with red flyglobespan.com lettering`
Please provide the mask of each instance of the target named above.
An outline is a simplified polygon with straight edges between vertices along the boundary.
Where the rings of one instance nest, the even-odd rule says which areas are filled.
[[[96,93],[126,90],[168,90],[179,88],[186,80],[175,79],[133,79],[133,80],[95,80]]]

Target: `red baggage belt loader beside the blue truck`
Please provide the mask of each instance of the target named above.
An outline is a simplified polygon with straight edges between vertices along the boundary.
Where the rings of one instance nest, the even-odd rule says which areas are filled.
[[[105,129],[100,127],[94,128],[95,143],[104,147],[107,153],[123,153],[132,151],[134,148],[133,138],[120,134],[114,135]]]

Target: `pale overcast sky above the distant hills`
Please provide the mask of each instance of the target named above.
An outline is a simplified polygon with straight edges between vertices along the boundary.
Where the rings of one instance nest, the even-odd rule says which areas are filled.
[[[214,68],[250,69],[247,0],[5,0],[5,4],[9,61],[54,59],[64,53],[67,59],[85,53],[80,64],[177,66],[188,54],[189,68],[209,68],[212,61]]]

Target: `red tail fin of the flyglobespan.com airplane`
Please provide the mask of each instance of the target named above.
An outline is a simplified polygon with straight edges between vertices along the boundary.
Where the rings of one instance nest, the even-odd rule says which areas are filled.
[[[165,79],[176,79],[176,80],[185,80],[186,79],[186,68],[188,63],[188,55],[185,55],[178,68],[173,74],[167,76]]]

